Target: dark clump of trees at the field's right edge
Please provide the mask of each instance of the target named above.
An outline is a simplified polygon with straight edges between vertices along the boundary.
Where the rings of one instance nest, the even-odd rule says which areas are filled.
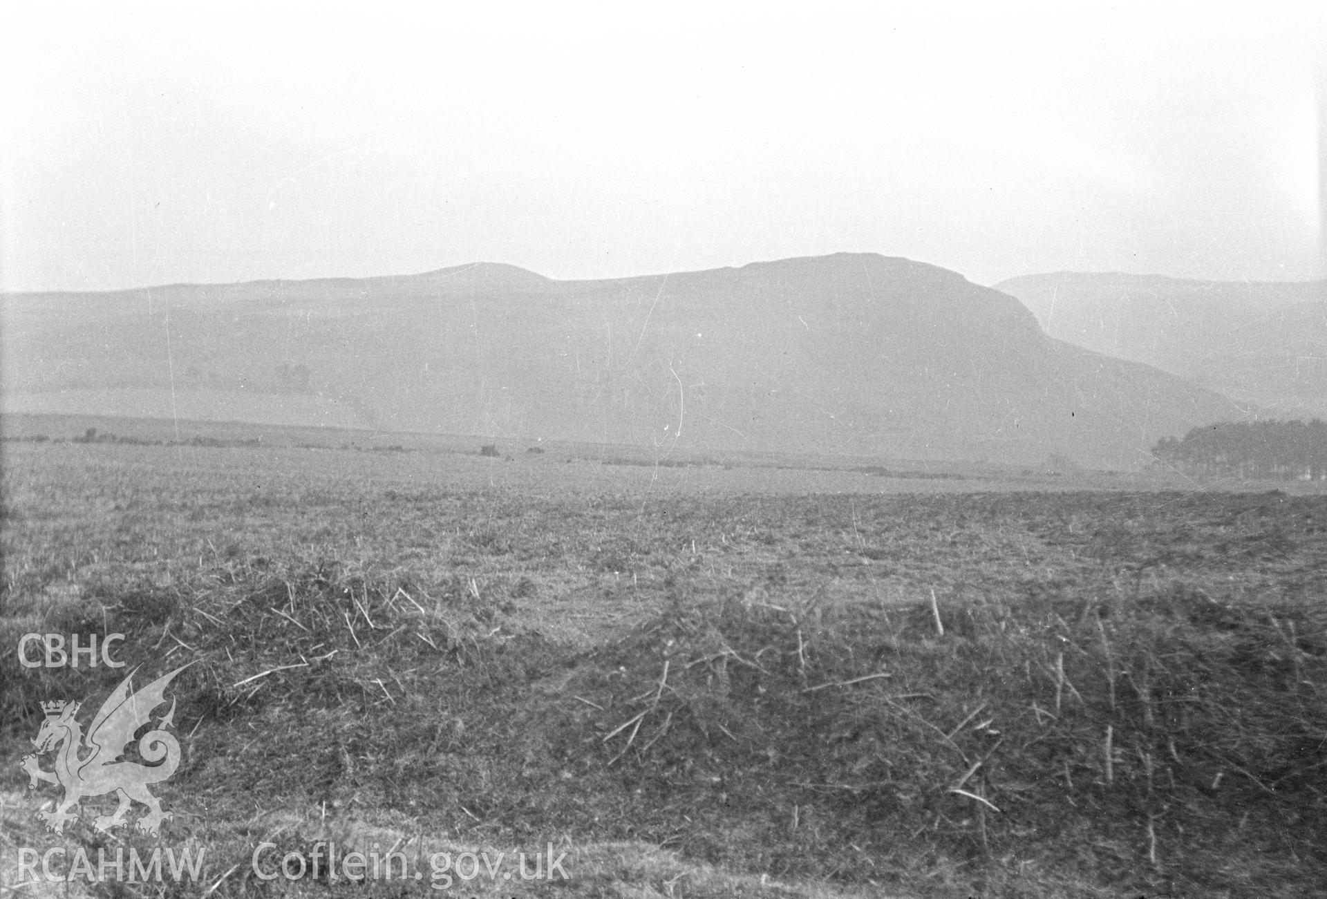
[[[1324,480],[1327,422],[1221,422],[1162,438],[1152,455],[1193,475]]]

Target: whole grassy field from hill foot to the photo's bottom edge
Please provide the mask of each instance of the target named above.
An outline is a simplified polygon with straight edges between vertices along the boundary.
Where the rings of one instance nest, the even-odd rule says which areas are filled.
[[[1318,495],[349,439],[4,452],[0,884],[61,843],[206,849],[166,895],[1327,890]],[[23,668],[29,631],[195,662],[159,839],[93,830],[106,798],[62,838],[36,821],[40,701],[88,716],[123,672]],[[314,878],[326,839],[423,878]],[[309,875],[259,879],[264,841]],[[549,843],[565,880],[429,888],[437,853]],[[17,895],[44,890],[158,895]]]

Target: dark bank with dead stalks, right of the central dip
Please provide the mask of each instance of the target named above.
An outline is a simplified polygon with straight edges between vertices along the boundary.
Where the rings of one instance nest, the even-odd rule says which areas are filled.
[[[1070,872],[1273,895],[1327,876],[1324,634],[1320,605],[1180,585],[906,613],[747,599],[678,606],[583,689],[614,711],[608,764],[657,826],[703,821],[685,838],[703,857],[900,887],[933,865],[995,895]]]

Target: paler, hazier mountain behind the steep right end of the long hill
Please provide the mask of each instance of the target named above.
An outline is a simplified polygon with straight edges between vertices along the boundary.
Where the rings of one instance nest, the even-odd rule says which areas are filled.
[[[1327,418],[1327,281],[1031,274],[995,285],[1051,337],[1153,365],[1278,415]]]

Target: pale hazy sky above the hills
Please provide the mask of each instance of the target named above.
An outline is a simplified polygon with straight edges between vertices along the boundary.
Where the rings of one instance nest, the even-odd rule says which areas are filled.
[[[21,5],[4,289],[836,251],[1327,273],[1319,4]]]

